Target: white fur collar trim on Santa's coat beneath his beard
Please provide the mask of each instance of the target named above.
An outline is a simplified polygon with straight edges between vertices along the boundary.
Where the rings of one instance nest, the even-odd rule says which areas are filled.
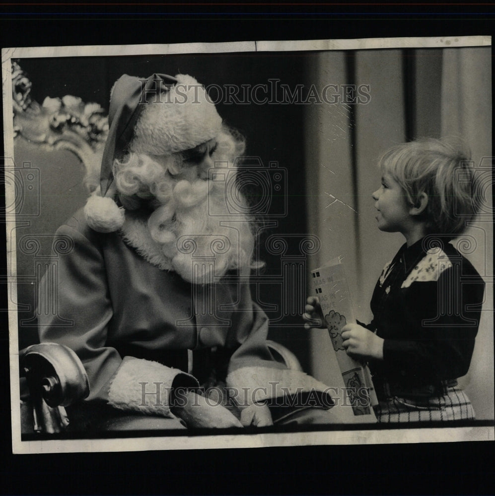
[[[173,270],[171,259],[162,252],[160,244],[151,238],[147,220],[142,214],[126,211],[126,220],[120,230],[122,239],[136,248],[138,254],[152,265],[161,270]]]

